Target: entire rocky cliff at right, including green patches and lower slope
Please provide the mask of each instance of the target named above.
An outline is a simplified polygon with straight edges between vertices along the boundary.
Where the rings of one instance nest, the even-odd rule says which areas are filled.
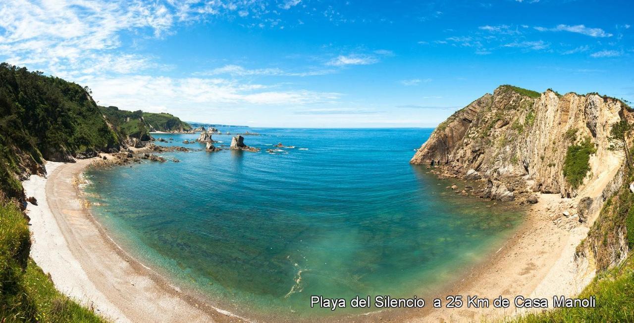
[[[634,172],[610,149],[611,127],[620,120],[631,124],[634,113],[619,99],[502,85],[440,124],[411,163],[479,179],[485,198],[526,193],[524,201],[537,203],[541,193],[560,194],[589,227],[578,262],[604,270],[634,246]]]

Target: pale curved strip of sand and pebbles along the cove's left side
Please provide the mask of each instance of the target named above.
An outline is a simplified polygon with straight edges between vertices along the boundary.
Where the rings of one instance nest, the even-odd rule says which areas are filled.
[[[201,303],[130,257],[94,220],[77,187],[90,163],[47,162],[46,178],[23,182],[32,224],[31,256],[56,288],[114,322],[245,322]]]

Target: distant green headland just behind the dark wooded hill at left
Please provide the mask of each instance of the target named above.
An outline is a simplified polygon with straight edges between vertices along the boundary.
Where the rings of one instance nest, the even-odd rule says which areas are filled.
[[[141,141],[148,141],[150,140],[150,130],[191,130],[191,125],[169,113],[126,111],[119,110],[116,106],[100,106],[99,109],[122,137],[134,137]]]

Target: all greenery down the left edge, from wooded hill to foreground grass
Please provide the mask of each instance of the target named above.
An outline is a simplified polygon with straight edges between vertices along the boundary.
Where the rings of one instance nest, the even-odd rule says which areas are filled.
[[[0,322],[102,322],[55,290],[30,260],[20,177],[44,159],[119,147],[87,88],[0,64]]]

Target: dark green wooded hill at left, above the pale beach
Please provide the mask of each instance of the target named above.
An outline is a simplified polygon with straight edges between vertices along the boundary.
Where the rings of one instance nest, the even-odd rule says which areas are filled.
[[[0,64],[0,187],[22,197],[17,174],[36,171],[42,158],[119,146],[87,89],[41,72]]]

